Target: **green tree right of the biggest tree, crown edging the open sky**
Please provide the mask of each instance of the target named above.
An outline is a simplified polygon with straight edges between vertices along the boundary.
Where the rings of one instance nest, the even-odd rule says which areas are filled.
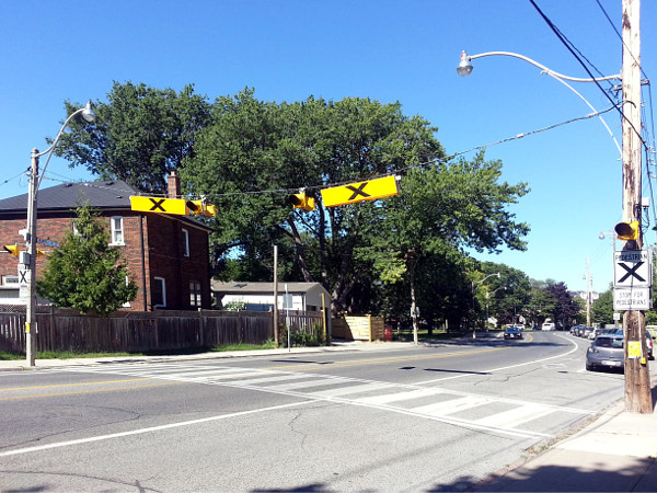
[[[402,193],[379,206],[380,223],[372,221],[381,231],[372,236],[374,267],[388,282],[407,276],[411,306],[417,306],[417,266],[426,254],[465,268],[465,246],[525,250],[529,227],[516,222],[506,207],[528,192],[527,185],[500,183],[500,175],[502,162],[485,161],[483,152],[473,161],[414,168],[402,180]]]

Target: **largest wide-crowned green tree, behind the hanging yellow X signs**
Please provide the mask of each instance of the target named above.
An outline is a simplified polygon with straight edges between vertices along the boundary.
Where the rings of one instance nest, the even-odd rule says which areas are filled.
[[[217,259],[247,255],[256,244],[290,244],[299,277],[322,283],[342,311],[371,280],[364,249],[370,236],[384,233],[374,227],[382,209],[374,203],[325,208],[319,188],[429,162],[441,156],[434,131],[423,118],[404,116],[399,103],[310,98],[277,104],[245,90],[217,100],[212,125],[199,134],[181,176],[221,210],[214,219]],[[287,203],[300,188],[315,195],[314,211],[293,211]]]

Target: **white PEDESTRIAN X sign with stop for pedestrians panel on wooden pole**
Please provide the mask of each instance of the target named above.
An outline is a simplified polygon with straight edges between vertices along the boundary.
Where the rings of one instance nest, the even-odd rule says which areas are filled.
[[[613,309],[649,310],[653,270],[647,250],[613,252]]]

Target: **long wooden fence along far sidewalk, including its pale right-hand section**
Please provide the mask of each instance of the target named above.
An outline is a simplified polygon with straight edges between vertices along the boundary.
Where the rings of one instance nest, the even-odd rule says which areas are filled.
[[[24,308],[0,309],[0,351],[25,352]],[[322,312],[280,314],[292,332],[322,328]],[[117,312],[82,316],[38,307],[36,351],[76,353],[176,351],[228,344],[263,344],[274,339],[272,313],[253,311]]]

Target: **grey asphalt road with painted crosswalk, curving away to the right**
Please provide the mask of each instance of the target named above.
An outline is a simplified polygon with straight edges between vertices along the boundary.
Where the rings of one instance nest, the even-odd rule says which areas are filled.
[[[3,372],[0,490],[465,490],[622,398],[587,346],[486,334]]]

